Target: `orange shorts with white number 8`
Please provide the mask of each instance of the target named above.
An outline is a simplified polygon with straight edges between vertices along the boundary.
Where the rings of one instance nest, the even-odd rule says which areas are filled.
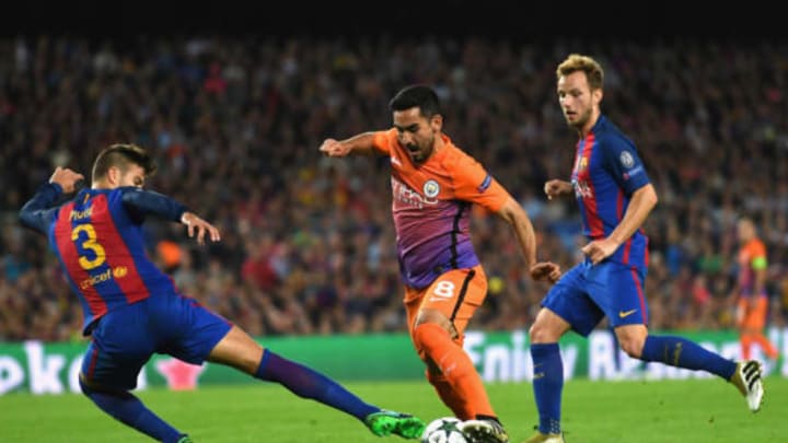
[[[405,310],[408,330],[413,334],[416,316],[422,308],[443,313],[454,325],[462,345],[463,334],[468,320],[487,296],[487,276],[482,265],[473,268],[452,269],[438,277],[425,289],[405,289]]]

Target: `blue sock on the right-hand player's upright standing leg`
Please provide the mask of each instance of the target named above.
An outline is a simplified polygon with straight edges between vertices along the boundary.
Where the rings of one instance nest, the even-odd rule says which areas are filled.
[[[564,362],[558,343],[531,345],[531,358],[534,363],[533,389],[540,415],[540,432],[560,433]]]

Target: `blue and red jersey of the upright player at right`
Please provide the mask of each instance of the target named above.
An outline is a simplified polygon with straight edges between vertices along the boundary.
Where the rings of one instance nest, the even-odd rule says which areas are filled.
[[[586,237],[601,240],[610,235],[624,219],[631,195],[649,183],[635,143],[600,116],[588,136],[578,141],[571,175]],[[609,259],[648,266],[648,237],[642,229]]]

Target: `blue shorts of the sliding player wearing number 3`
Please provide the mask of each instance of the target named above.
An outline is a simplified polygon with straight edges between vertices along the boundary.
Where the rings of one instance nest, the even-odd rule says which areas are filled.
[[[149,299],[106,313],[95,324],[82,360],[91,385],[129,390],[154,353],[201,364],[232,324],[179,294]]]

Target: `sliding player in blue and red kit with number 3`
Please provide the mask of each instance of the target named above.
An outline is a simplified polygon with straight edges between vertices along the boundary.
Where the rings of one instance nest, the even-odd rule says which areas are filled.
[[[153,353],[201,364],[217,362],[256,378],[276,382],[296,395],[320,401],[361,420],[375,435],[418,439],[416,417],[367,404],[343,386],[263,348],[245,331],[178,293],[144,249],[147,215],[181,222],[199,244],[218,242],[216,226],[179,202],[142,189],[155,172],[149,154],[134,144],[113,144],[93,164],[92,188],[58,205],[83,179],[58,167],[20,212],[26,226],[48,235],[84,314],[91,336],[80,385],[109,416],[162,442],[190,438],[148,409],[130,390]]]

